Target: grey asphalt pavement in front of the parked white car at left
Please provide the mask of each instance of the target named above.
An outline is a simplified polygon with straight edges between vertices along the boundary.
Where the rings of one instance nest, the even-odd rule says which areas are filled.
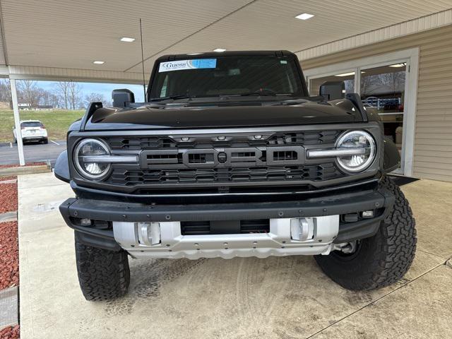
[[[12,146],[12,147],[11,147]],[[47,145],[40,143],[26,143],[23,145],[25,162],[50,160],[52,165],[59,153],[66,150],[66,141],[49,141]],[[10,143],[0,144],[0,165],[13,165],[19,163],[17,145]]]

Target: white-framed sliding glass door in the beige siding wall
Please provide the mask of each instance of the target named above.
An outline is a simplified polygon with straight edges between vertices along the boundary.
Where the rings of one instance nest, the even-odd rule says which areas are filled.
[[[404,49],[304,70],[310,95],[326,81],[344,81],[345,93],[359,93],[367,109],[377,112],[384,134],[396,143],[401,167],[412,175],[419,49]]]

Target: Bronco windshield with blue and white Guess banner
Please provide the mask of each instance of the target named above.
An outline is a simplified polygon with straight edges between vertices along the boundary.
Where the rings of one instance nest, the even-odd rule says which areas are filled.
[[[300,75],[291,57],[210,57],[162,61],[150,99],[220,95],[302,97]]]

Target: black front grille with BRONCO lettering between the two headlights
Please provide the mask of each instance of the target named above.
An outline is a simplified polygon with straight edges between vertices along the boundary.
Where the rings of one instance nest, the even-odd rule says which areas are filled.
[[[106,141],[112,150],[137,154],[139,165],[113,165],[107,182],[137,189],[214,184],[225,191],[229,184],[336,179],[343,174],[334,162],[307,162],[305,147],[332,146],[342,132],[111,137]]]

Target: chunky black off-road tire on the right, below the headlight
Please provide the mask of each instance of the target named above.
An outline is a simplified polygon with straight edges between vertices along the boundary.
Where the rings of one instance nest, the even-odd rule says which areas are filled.
[[[396,201],[374,237],[352,244],[350,254],[332,251],[328,256],[315,256],[323,272],[348,290],[374,290],[396,283],[415,258],[417,239],[410,204],[388,177],[381,186],[391,191]]]

